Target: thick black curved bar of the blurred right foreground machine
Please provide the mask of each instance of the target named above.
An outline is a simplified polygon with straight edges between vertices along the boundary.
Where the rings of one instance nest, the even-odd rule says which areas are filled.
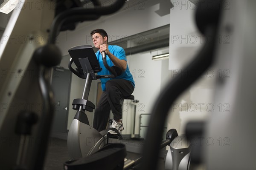
[[[201,28],[201,32],[204,32],[206,37],[213,37],[212,41],[206,41],[203,49],[196,55],[195,59],[183,69],[188,72],[189,75],[182,76],[178,74],[167,84],[156,100],[149,121],[150,127],[147,131],[140,170],[154,170],[157,168],[157,157],[160,150],[163,126],[173,102],[182,92],[191,86],[213,62],[215,42],[217,42],[216,30],[218,29],[218,20],[221,13],[221,1],[216,0],[215,2],[216,8],[209,10],[199,6],[196,13],[196,17],[198,17],[196,20],[198,27]],[[202,4],[205,7],[204,1],[202,1],[201,5]],[[201,15],[198,15],[199,13]]]

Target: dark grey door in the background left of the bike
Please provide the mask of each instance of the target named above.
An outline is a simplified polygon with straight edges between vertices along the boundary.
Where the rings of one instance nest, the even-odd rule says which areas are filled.
[[[53,137],[56,134],[67,133],[67,118],[69,110],[69,96],[71,72],[64,68],[53,68],[52,89],[55,98],[55,112],[52,124]]]

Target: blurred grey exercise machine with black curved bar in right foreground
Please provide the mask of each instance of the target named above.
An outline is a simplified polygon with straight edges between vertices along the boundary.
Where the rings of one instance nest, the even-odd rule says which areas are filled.
[[[187,124],[186,137],[193,145],[190,165],[192,169],[255,170],[256,1],[198,0],[195,14],[198,29],[211,40],[206,40],[182,69],[189,76],[178,74],[158,96],[151,112],[141,169],[157,168],[163,122],[169,110],[177,97],[212,66],[216,74],[220,69],[230,71],[228,77],[216,78],[212,101],[216,106],[228,104],[230,112],[215,108],[207,121]],[[228,43],[219,42],[219,37],[224,36],[229,38]]]

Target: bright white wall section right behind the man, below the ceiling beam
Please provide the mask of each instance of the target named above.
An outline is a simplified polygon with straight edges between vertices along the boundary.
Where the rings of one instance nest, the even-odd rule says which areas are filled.
[[[133,95],[139,100],[135,116],[135,134],[140,131],[140,114],[151,113],[160,92],[162,61],[152,60],[152,56],[156,54],[157,51],[144,52],[129,57],[129,68],[135,81]]]

